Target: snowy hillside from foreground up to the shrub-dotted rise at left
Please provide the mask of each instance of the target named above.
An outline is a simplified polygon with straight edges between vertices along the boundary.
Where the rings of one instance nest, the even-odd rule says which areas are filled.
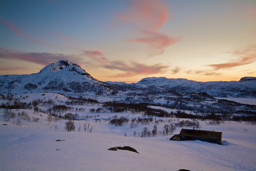
[[[17,94],[1,98],[0,103],[5,107],[7,103],[26,105],[0,108],[1,170],[256,170],[253,122],[218,123],[130,110],[107,112],[98,110],[104,103],[71,100],[56,93]],[[74,131],[64,129],[66,115],[76,115]],[[129,121],[115,126],[111,120],[116,117]],[[199,130],[221,131],[223,145],[170,141],[182,128],[193,129],[177,124],[182,121],[198,123]],[[173,133],[166,131],[171,124],[177,124]],[[149,131],[155,126],[157,134],[152,135]],[[143,135],[145,130],[147,135]],[[118,146],[131,146],[139,154],[108,150]]]

